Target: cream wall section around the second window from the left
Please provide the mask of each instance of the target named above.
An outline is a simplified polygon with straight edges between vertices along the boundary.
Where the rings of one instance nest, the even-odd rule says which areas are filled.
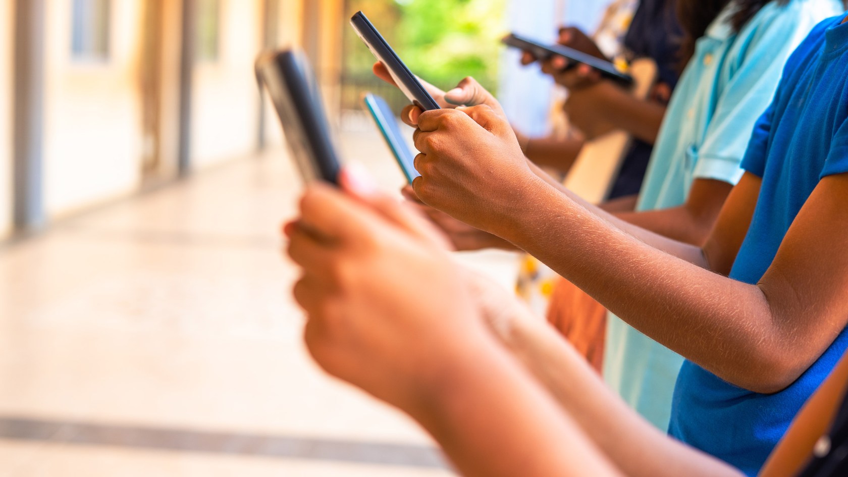
[[[262,2],[222,0],[220,58],[195,67],[192,164],[196,169],[253,154],[259,138],[254,59],[262,49]]]

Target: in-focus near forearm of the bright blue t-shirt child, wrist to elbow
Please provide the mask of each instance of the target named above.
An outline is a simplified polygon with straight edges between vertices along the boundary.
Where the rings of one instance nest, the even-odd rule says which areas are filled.
[[[522,212],[499,217],[491,232],[634,328],[749,390],[774,392],[797,377],[784,366],[794,342],[790,322],[773,317],[757,286],[657,250],[540,181],[522,194]]]

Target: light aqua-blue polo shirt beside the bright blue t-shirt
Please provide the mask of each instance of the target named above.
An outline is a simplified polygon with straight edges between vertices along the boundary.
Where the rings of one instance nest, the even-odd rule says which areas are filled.
[[[768,3],[734,33],[724,9],[696,45],[668,106],[637,210],[678,207],[697,178],[735,184],[757,119],[772,102],[789,54],[838,0]],[[604,379],[636,411],[668,429],[683,358],[610,314]]]

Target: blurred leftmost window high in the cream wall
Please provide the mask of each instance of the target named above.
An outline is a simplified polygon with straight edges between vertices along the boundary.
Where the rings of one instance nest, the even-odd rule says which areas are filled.
[[[110,0],[73,0],[71,53],[75,59],[109,59]]]

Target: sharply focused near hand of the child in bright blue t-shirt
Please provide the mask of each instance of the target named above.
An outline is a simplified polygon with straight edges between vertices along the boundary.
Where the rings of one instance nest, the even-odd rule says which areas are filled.
[[[538,180],[510,125],[488,106],[421,114],[414,134],[418,198],[461,222],[494,233]]]

